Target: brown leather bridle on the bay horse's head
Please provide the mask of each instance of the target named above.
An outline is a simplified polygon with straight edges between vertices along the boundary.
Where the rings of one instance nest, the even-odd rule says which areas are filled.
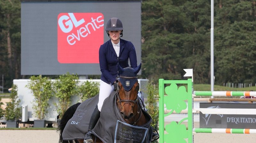
[[[138,79],[138,77],[124,77],[124,76],[119,76],[119,77],[123,78],[123,79]],[[130,90],[132,90],[132,89],[130,89]],[[139,115],[138,119],[136,121],[133,121],[131,124],[136,124],[140,120],[140,117],[141,117],[141,109],[140,109],[140,105],[139,105],[139,102],[138,102],[138,100],[139,100],[138,92],[140,90],[140,84],[139,84],[139,86],[138,86],[138,88],[136,90],[137,90],[137,98],[135,100],[122,100],[122,99],[120,99],[120,96],[119,96],[119,87],[117,86],[117,89],[116,89],[116,95],[117,95],[116,96],[116,103],[119,103],[121,105],[122,109],[123,109],[125,104],[129,104],[129,105],[132,106],[132,110],[133,110],[133,107],[137,103],[137,106],[138,106],[137,113],[140,114],[140,115]],[[122,102],[125,102],[124,105],[121,104]],[[132,103],[133,103],[133,105],[132,105]],[[133,117],[135,118],[135,115]],[[126,119],[124,119],[124,120],[126,120]],[[126,122],[130,123],[128,120],[126,120]]]

